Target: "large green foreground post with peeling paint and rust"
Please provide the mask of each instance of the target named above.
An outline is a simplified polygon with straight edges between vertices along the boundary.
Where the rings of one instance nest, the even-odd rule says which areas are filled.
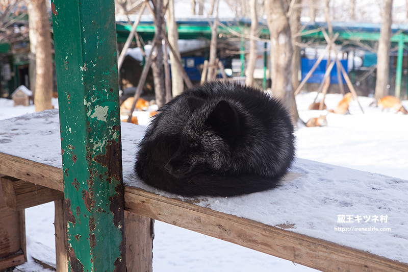
[[[70,271],[126,271],[114,1],[53,0]]]

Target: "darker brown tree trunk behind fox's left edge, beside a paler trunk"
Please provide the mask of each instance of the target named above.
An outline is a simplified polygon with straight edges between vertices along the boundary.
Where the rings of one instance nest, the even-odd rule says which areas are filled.
[[[153,81],[155,83],[155,95],[156,104],[163,106],[166,102],[165,90],[164,90],[164,79],[163,79],[163,47],[162,47],[162,33],[163,33],[163,0],[155,1],[155,24],[156,24],[156,35],[160,35],[160,39],[156,41],[156,58],[151,64],[151,70],[153,72]]]

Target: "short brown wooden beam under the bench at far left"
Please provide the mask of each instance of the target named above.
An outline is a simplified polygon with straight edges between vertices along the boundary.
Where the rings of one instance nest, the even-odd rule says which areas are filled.
[[[64,198],[64,193],[31,182],[9,176],[2,181],[6,205],[14,210],[23,210]]]

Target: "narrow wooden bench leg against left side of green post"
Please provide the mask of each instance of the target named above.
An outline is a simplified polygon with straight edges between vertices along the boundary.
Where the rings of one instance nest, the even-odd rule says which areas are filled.
[[[57,272],[68,272],[67,224],[65,222],[64,200],[54,201],[55,205],[55,254]]]

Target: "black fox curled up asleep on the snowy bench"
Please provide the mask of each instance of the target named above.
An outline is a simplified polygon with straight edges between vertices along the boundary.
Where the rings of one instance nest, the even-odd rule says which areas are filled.
[[[160,109],[139,144],[147,184],[185,196],[232,196],[273,188],[294,158],[290,116],[260,90],[208,83]]]

